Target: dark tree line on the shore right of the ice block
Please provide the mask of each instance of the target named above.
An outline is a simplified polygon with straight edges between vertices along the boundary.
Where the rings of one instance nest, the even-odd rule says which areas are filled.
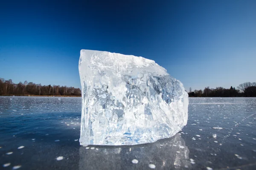
[[[209,88],[204,90],[192,91],[189,88],[189,97],[256,97],[256,82],[244,82],[240,84],[237,89],[235,87],[230,88]]]

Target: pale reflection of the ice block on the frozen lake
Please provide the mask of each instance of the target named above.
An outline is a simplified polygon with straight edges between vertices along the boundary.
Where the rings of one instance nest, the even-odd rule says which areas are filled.
[[[148,169],[148,164],[155,164],[156,169],[184,169],[191,166],[189,149],[179,134],[148,144],[88,147],[90,149],[79,149],[79,170],[141,170]],[[138,164],[133,164],[133,159],[137,159]]]

